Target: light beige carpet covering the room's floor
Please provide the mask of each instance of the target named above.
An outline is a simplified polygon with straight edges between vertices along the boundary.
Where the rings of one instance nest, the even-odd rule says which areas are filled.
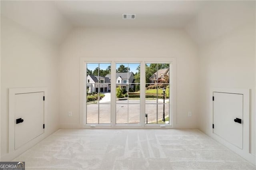
[[[26,169],[255,170],[200,130],[58,130],[13,161]]]

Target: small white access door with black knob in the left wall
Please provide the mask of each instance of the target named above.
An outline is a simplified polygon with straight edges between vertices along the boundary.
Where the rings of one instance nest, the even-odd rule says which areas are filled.
[[[15,94],[15,149],[44,133],[43,98],[44,92]]]

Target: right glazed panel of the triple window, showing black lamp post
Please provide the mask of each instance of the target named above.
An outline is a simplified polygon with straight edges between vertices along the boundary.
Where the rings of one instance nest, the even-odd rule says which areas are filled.
[[[146,63],[145,113],[148,124],[170,124],[170,64]]]

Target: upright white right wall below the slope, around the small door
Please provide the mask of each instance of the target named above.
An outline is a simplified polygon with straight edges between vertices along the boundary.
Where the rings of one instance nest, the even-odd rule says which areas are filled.
[[[250,95],[250,148],[255,153],[255,25],[238,28],[200,45],[200,129],[210,134],[210,88],[252,89]]]

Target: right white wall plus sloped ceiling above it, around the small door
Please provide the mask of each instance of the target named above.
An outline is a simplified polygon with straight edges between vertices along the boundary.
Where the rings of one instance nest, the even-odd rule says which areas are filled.
[[[200,130],[212,132],[210,89],[243,88],[250,92],[250,152],[256,152],[256,2],[209,1],[187,25],[200,58]]]

